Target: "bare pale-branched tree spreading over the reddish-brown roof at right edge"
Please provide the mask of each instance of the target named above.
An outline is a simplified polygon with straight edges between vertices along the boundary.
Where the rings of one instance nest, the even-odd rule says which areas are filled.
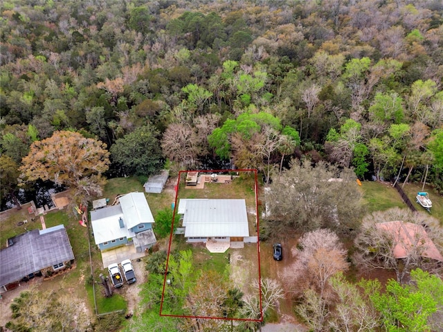
[[[406,222],[413,227],[405,226]],[[435,218],[409,209],[376,211],[363,219],[361,232],[354,240],[353,260],[363,270],[393,270],[401,283],[413,268],[430,272],[442,269],[438,259],[430,257],[429,250],[434,252],[434,247],[429,240],[440,254],[443,231]]]

